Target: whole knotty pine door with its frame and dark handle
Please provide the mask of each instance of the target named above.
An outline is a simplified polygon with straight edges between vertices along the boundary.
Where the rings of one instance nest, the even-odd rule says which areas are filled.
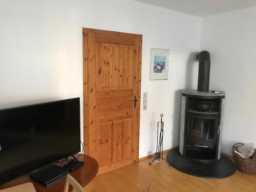
[[[142,35],[83,29],[84,144],[99,174],[139,156]]]

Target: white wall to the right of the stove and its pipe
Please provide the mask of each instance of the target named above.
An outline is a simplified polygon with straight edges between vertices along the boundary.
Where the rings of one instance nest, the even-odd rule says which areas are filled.
[[[222,151],[256,144],[256,7],[204,17],[201,49],[211,53],[210,88],[226,92]]]

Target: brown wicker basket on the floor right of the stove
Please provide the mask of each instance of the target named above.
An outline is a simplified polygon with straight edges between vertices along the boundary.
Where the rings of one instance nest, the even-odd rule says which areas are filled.
[[[254,175],[256,174],[256,156],[254,156],[252,159],[249,159],[243,158],[240,155],[234,153],[234,151],[239,152],[238,147],[243,145],[243,143],[236,143],[233,145],[232,155],[234,162],[236,163],[236,166],[240,172],[248,175]]]

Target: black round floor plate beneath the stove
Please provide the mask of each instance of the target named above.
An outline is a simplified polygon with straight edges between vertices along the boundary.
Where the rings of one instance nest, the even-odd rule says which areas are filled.
[[[223,155],[216,164],[199,163],[184,158],[180,154],[179,148],[176,148],[167,154],[166,159],[174,168],[197,177],[218,179],[228,177],[236,172],[234,163]]]

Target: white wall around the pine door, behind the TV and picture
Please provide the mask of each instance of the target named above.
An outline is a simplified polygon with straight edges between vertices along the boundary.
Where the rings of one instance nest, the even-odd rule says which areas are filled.
[[[196,88],[188,70],[190,53],[200,48],[201,18],[131,0],[0,0],[0,26],[0,108],[82,98],[82,27],[142,34],[141,93],[148,104],[139,157],[154,153],[161,113],[164,150],[178,145],[177,90]],[[168,80],[148,80],[151,47],[170,50]]]

